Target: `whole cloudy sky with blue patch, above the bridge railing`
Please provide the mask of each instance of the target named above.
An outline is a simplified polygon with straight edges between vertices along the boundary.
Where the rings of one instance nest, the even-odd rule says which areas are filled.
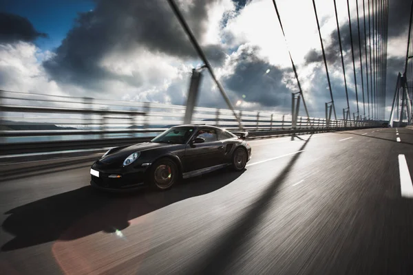
[[[237,109],[290,113],[297,65],[310,116],[330,101],[311,0],[277,0],[285,43],[271,0],[176,0]],[[332,0],[317,0],[337,116],[346,107]],[[363,0],[359,0],[364,43]],[[368,0],[366,19],[368,19]],[[191,69],[202,65],[165,0],[3,0],[0,89],[139,102],[184,104]],[[357,110],[346,0],[337,0],[350,111]],[[390,0],[388,93],[403,70],[410,1]],[[363,113],[356,0],[350,0],[359,109]],[[372,13],[371,15],[372,16]],[[366,66],[363,52],[363,68]],[[269,70],[269,71],[268,71]],[[364,89],[367,93],[366,69]],[[368,113],[367,94],[366,115]],[[202,107],[226,108],[204,72]],[[304,115],[304,110],[301,111]]]

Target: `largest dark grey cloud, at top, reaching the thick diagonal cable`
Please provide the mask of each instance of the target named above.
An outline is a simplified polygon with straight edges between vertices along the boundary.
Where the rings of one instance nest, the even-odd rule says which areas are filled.
[[[218,0],[195,0],[182,6],[193,34],[202,42],[211,4]],[[79,14],[56,56],[43,65],[54,80],[81,85],[94,85],[99,80],[125,80],[100,67],[110,52],[127,54],[147,49],[179,58],[197,58],[193,46],[166,1],[99,0],[91,12]],[[205,47],[211,63],[224,60],[221,45]]]

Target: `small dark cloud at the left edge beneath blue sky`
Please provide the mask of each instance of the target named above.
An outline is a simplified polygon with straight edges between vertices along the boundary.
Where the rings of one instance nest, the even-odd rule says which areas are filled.
[[[39,37],[45,38],[47,34],[36,31],[27,18],[0,12],[0,43],[32,42]]]

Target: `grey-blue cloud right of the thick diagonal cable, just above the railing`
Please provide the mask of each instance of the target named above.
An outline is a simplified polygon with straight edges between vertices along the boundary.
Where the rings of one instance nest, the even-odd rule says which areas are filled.
[[[290,72],[289,69],[279,69],[258,58],[255,49],[242,50],[232,62],[234,73],[226,77],[223,83],[237,98],[245,96],[245,101],[260,103],[264,107],[288,104],[286,100],[290,100],[291,91],[283,82],[283,75]]]

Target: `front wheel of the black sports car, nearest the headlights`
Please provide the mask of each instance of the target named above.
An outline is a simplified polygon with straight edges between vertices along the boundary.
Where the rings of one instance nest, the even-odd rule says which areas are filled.
[[[159,159],[151,166],[149,184],[155,190],[169,190],[180,178],[178,173],[178,166],[173,160],[166,157]]]

